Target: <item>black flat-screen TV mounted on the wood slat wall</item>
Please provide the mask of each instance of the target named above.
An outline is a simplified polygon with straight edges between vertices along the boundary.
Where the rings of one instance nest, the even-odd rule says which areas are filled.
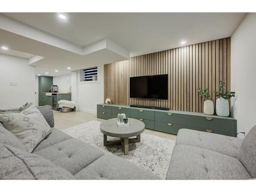
[[[130,77],[130,97],[168,99],[168,74]]]

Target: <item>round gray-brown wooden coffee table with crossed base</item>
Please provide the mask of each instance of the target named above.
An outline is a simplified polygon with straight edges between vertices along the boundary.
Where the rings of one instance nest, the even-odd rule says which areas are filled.
[[[129,143],[140,142],[140,134],[145,130],[145,124],[137,119],[128,118],[130,126],[118,127],[117,118],[103,121],[100,124],[100,132],[103,133],[103,146],[121,144],[124,155],[129,153]],[[107,136],[118,137],[119,140],[108,141]],[[134,137],[136,138],[130,138]]]

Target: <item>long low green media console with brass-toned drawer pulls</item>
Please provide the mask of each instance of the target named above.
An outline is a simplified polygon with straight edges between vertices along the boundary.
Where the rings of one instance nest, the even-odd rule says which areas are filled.
[[[235,137],[237,120],[203,113],[164,111],[115,104],[97,104],[97,118],[116,118],[118,113],[144,122],[146,129],[177,135],[179,129],[191,129]]]

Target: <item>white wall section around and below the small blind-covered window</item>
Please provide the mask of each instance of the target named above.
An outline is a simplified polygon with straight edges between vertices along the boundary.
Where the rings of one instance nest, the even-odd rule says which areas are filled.
[[[78,82],[78,110],[96,114],[97,104],[104,101],[104,71],[103,65],[98,66],[98,82]],[[78,79],[79,72],[74,75]],[[75,77],[76,76],[76,77]],[[75,89],[75,88],[74,88]],[[73,90],[73,87],[72,87]],[[73,93],[72,93],[73,94]]]

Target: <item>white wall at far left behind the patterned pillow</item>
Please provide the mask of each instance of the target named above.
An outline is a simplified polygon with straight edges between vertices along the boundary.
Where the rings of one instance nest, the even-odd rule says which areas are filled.
[[[19,108],[26,102],[35,102],[35,68],[28,59],[0,54],[0,109]]]

